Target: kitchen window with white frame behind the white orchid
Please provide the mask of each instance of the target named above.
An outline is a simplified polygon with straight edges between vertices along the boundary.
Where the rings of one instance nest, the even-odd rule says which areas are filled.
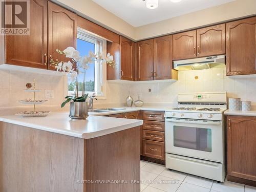
[[[78,28],[77,32],[77,50],[80,56],[89,55],[89,52],[106,55],[106,40],[87,30]],[[103,61],[94,61],[89,64],[90,68],[86,71],[86,93],[92,95],[96,93],[97,98],[104,99],[106,64]],[[75,83],[68,78],[68,94],[75,95]],[[78,93],[82,94],[83,74],[79,74]]]

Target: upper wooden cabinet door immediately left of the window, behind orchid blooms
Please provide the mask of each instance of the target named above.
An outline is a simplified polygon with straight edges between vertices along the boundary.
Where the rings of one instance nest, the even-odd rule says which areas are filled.
[[[67,47],[76,49],[77,15],[56,4],[48,2],[48,56],[56,61],[69,61],[65,55],[60,55],[56,49]],[[56,70],[50,63],[48,69]]]

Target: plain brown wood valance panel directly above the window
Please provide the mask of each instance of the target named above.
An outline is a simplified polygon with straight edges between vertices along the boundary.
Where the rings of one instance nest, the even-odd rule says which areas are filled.
[[[118,34],[112,32],[108,29],[105,29],[93,22],[90,22],[90,20],[87,20],[83,17],[77,16],[77,26],[82,29],[86,29],[92,33],[95,33],[97,35],[100,35],[106,39],[114,41],[117,44],[119,44],[119,42],[120,42],[120,36]]]

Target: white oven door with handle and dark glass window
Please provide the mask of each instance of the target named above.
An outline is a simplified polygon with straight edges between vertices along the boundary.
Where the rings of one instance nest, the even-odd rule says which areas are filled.
[[[165,119],[166,153],[223,163],[222,121]]]

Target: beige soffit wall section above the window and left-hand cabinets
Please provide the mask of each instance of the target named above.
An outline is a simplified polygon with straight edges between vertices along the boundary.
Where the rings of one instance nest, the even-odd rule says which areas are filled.
[[[91,0],[53,0],[74,9],[82,17],[126,37],[135,39],[135,28]],[[79,12],[79,13],[78,13]]]

